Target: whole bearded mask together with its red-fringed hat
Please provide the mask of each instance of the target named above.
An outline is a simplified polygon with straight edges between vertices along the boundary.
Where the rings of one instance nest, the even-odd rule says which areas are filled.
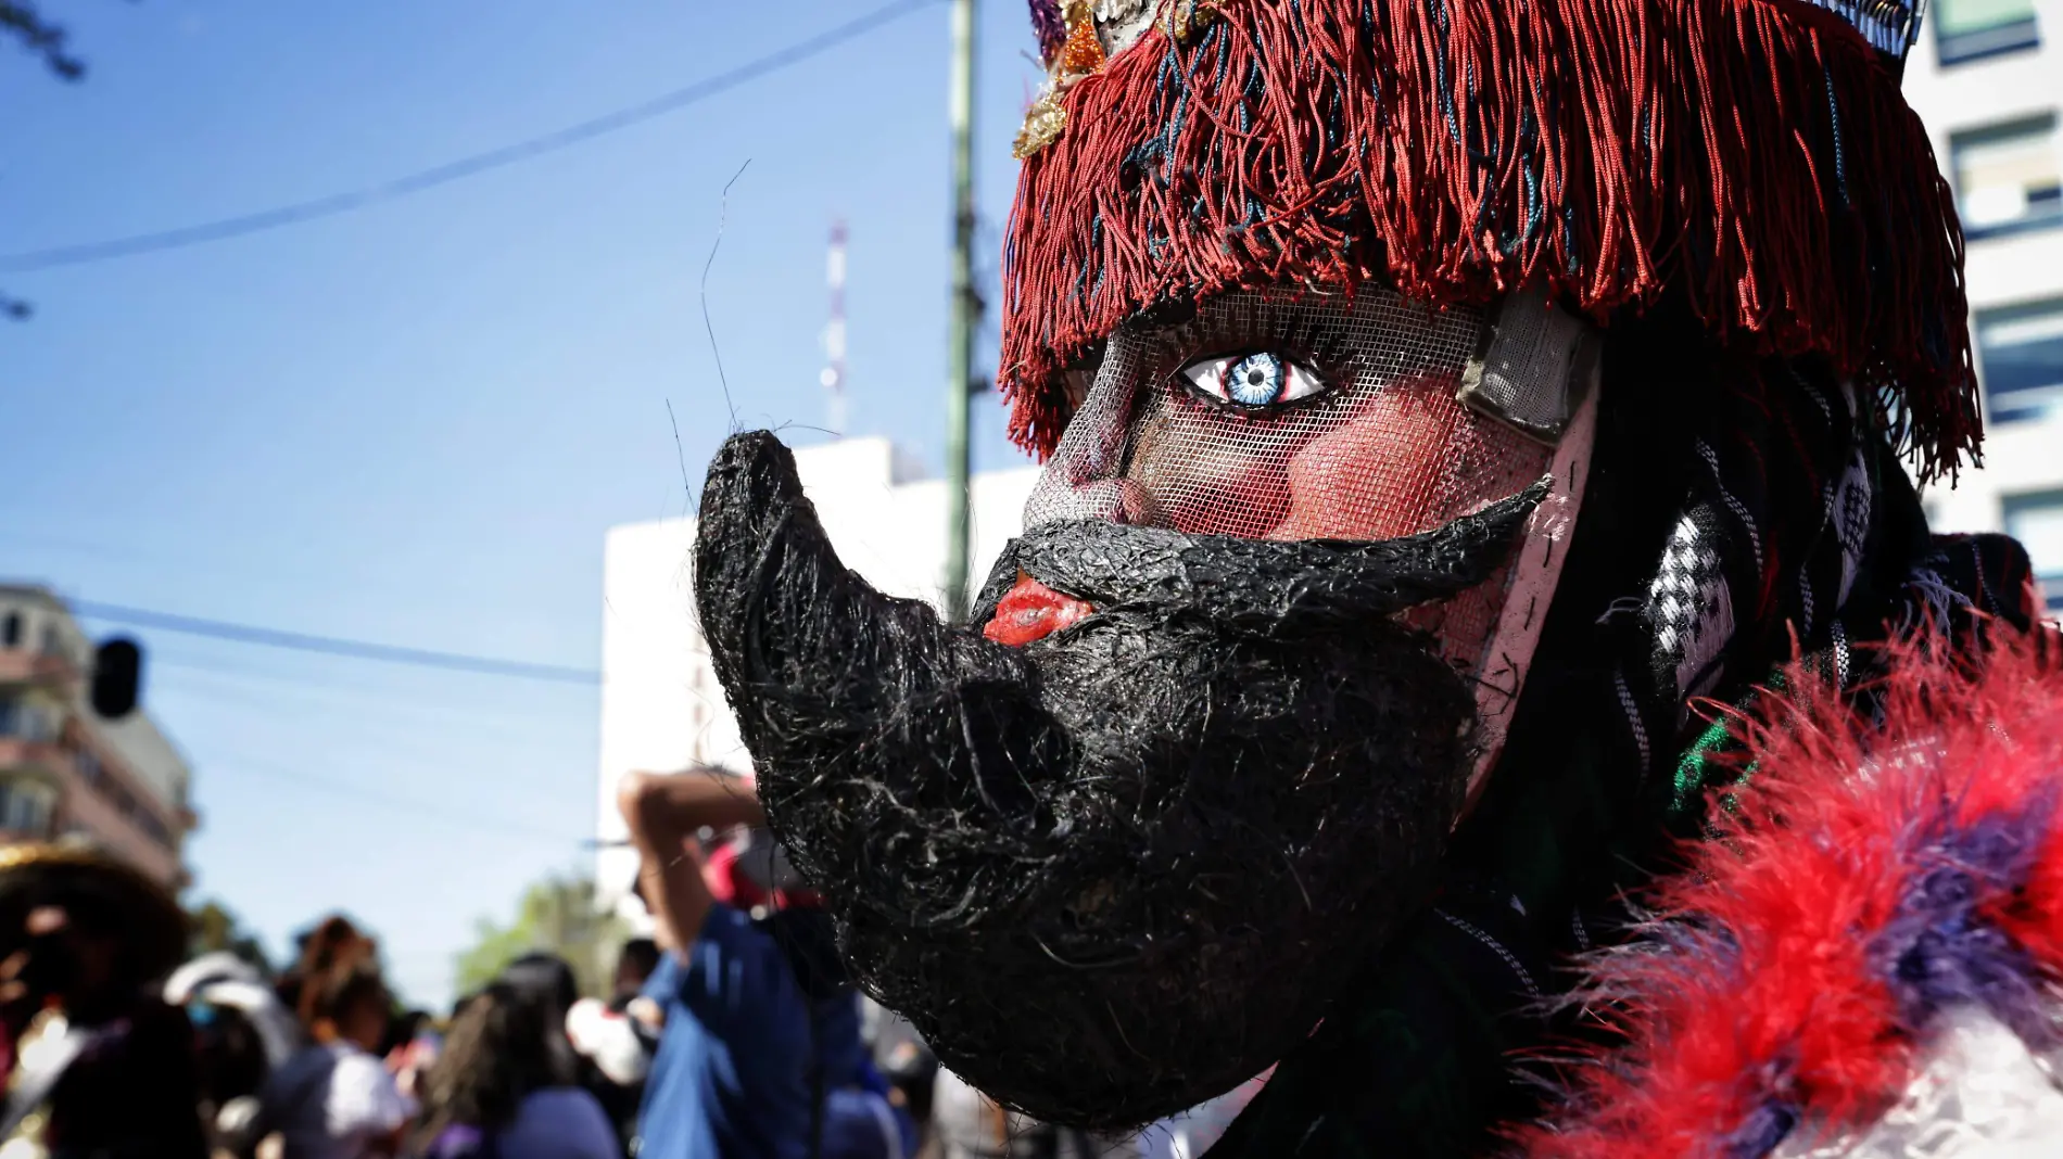
[[[1661,309],[1628,349],[1683,324],[1688,365],[1811,355],[1927,470],[1974,450],[1910,12],[1826,6],[1034,0],[998,386],[1050,466],[976,621],[840,565],[763,433],[695,547],[772,827],[947,1066],[1155,1120],[1289,1054],[1423,903],[1582,501],[1595,361],[1549,303]],[[1698,382],[1628,365],[1613,448]]]

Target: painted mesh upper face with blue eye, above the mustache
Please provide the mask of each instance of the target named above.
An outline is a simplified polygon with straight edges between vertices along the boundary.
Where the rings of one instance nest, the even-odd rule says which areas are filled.
[[[1537,481],[1551,450],[1456,402],[1475,309],[1242,291],[1110,336],[1025,524],[1378,540]],[[1545,384],[1562,388],[1562,382]]]

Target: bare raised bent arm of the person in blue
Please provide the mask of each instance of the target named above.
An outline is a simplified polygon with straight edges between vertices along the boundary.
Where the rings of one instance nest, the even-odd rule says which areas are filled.
[[[617,788],[617,808],[637,848],[637,883],[660,940],[675,955],[687,955],[714,903],[701,881],[695,831],[765,825],[765,810],[751,784],[718,769],[631,773]]]

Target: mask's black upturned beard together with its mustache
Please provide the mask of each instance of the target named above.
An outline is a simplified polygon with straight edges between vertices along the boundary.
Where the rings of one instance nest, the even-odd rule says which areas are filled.
[[[1098,610],[1013,650],[848,571],[749,433],[695,602],[858,982],[996,1101],[1133,1128],[1296,1048],[1423,899],[1473,697],[1390,617],[1494,573],[1541,493],[1374,544],[1036,528],[984,610],[1019,569]]]

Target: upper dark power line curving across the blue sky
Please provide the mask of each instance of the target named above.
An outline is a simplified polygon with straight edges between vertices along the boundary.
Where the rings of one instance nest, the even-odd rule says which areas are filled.
[[[50,270],[56,266],[78,266],[85,262],[105,262],[109,258],[134,258],[136,254],[155,254],[161,250],[184,250],[188,245],[202,245],[208,241],[223,241],[229,237],[243,237],[245,233],[262,233],[266,229],[279,229],[285,225],[299,225],[303,221],[318,221],[324,217],[336,217],[353,210],[361,210],[373,204],[400,200],[437,186],[448,186],[489,169],[501,169],[518,161],[528,161],[532,157],[543,157],[547,153],[557,153],[596,136],[604,136],[666,113],[685,109],[697,101],[716,97],[765,76],[767,72],[778,72],[790,64],[809,60],[829,52],[850,39],[866,35],[881,25],[908,16],[918,8],[930,8],[939,0],[895,0],[875,8],[873,12],[838,25],[831,31],[809,37],[800,43],[788,45],[780,52],[761,56],[741,64],[728,72],[718,72],[706,80],[697,80],[685,89],[675,89],[640,105],[627,109],[617,109],[613,113],[598,115],[594,120],[580,122],[576,126],[561,128],[557,132],[547,132],[543,136],[532,136],[530,140],[520,140],[516,144],[503,144],[501,148],[489,148],[487,153],[474,153],[472,157],[462,157],[458,161],[448,161],[431,169],[398,177],[380,186],[367,186],[363,190],[353,190],[347,194],[330,194],[324,198],[312,198],[305,202],[293,202],[279,208],[245,212],[237,217],[225,217],[219,221],[206,221],[200,225],[186,225],[179,229],[163,229],[155,233],[134,233],[130,237],[116,237],[109,241],[87,241],[80,245],[56,245],[50,250],[25,250],[21,254],[0,254],[0,272],[23,272],[23,270]]]

